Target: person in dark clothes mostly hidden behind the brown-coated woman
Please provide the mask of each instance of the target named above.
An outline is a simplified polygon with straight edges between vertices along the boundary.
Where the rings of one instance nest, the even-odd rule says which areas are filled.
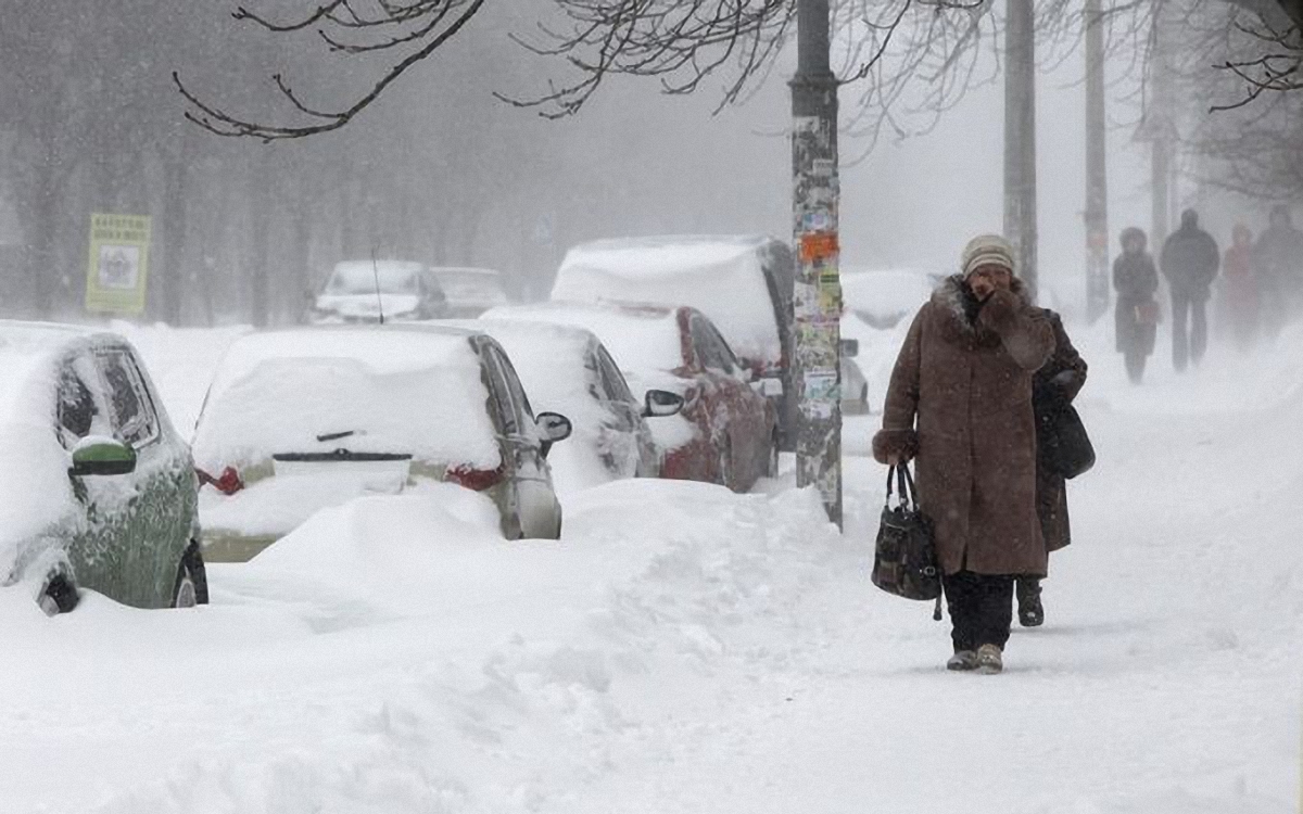
[[[1087,365],[1076,352],[1063,320],[1049,309],[1045,318],[1054,330],[1054,353],[1049,361],[1032,376],[1032,410],[1036,413],[1036,427],[1046,427],[1054,415],[1072,404],[1085,386]],[[1036,516],[1041,521],[1041,537],[1045,538],[1045,554],[1058,551],[1072,542],[1072,531],[1067,517],[1067,481],[1054,471],[1040,455],[1036,456]],[[1018,595],[1018,624],[1036,628],[1045,623],[1045,606],[1041,602],[1041,578],[1035,574],[1019,576],[1015,582]]]

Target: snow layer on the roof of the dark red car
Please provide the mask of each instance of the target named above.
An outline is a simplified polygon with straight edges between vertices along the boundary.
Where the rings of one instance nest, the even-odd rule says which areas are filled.
[[[483,319],[575,326],[592,331],[622,371],[668,371],[683,366],[678,309],[631,302],[539,302],[486,311]]]

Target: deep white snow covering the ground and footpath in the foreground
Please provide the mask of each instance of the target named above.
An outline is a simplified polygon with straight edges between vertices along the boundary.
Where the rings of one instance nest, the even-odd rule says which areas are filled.
[[[232,335],[136,336],[182,427]],[[864,457],[842,538],[782,483],[616,483],[560,543],[369,499],[194,612],[0,591],[0,811],[1295,811],[1303,331],[1140,389],[1075,339],[1100,464],[1002,676],[868,585]]]

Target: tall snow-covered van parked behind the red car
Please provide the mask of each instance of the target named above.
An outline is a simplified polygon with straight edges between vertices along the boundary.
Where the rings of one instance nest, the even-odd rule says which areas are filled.
[[[766,392],[779,417],[779,442],[792,449],[795,274],[791,247],[764,234],[601,240],[566,253],[551,300],[697,309],[728,340],[744,369],[773,382]]]

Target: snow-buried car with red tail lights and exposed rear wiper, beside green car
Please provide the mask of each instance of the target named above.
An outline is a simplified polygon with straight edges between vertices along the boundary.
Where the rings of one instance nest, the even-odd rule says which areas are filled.
[[[558,538],[547,453],[506,352],[446,326],[308,327],[232,343],[194,431],[205,554],[242,561],[317,511],[375,494],[483,492],[508,539]]]

